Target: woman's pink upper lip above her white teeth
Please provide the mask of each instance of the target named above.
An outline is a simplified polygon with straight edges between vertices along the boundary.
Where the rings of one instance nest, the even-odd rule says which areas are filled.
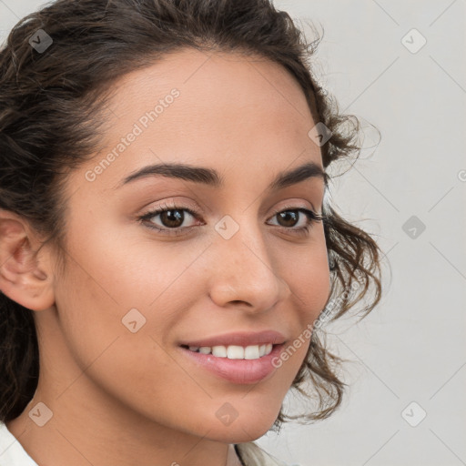
[[[206,339],[192,339],[189,341],[181,341],[180,345],[186,346],[250,346],[250,345],[261,345],[265,343],[272,343],[273,345],[281,344],[285,341],[285,337],[275,330],[264,330],[259,332],[244,332],[237,331],[232,333],[225,333],[222,335],[216,335],[208,337]]]

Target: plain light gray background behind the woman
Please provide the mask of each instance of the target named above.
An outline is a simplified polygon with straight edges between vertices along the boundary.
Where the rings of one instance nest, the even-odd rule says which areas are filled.
[[[360,160],[331,195],[379,241],[391,274],[385,267],[368,318],[330,329],[331,348],[352,361],[341,409],[258,443],[302,466],[466,464],[465,2],[274,3],[324,27],[321,84],[367,128]],[[0,35],[43,4],[0,0]],[[298,402],[286,405],[296,412]]]

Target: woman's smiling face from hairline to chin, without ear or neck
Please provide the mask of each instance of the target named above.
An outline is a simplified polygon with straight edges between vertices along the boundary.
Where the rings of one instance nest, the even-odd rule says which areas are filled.
[[[120,80],[108,117],[106,148],[67,181],[55,317],[36,316],[50,337],[42,354],[69,377],[63,387],[73,382],[61,400],[98,393],[131,420],[256,439],[329,297],[323,224],[309,213],[321,213],[324,182],[306,98],[267,60],[183,51]],[[271,186],[306,164],[317,168]],[[227,358],[205,349],[221,346]]]

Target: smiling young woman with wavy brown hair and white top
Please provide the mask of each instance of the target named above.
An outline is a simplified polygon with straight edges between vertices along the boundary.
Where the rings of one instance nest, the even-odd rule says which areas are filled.
[[[320,329],[375,307],[380,256],[325,198],[359,127],[317,43],[267,0],[59,0],[15,26],[0,464],[281,464],[253,441],[288,390],[308,420],[338,408]]]

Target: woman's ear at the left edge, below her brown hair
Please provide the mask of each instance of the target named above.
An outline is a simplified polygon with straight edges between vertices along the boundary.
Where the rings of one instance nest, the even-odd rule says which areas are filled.
[[[0,208],[0,290],[26,309],[48,309],[55,303],[49,252],[14,212]]]

